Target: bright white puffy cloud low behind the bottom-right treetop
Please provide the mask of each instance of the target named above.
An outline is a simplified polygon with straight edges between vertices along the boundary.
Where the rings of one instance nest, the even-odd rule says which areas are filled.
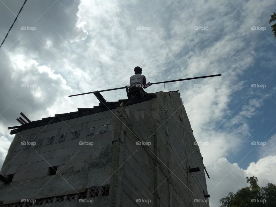
[[[259,186],[267,183],[276,184],[276,156],[261,158],[258,162],[250,163],[246,170],[237,163],[229,163],[226,158],[220,158],[214,165],[207,168],[210,179],[207,178],[210,207],[219,206],[219,199],[228,196],[230,192],[248,186],[246,177],[258,177]]]

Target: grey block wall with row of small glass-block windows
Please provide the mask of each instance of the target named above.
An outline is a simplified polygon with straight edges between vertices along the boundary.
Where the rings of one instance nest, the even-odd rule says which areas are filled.
[[[109,188],[113,116],[114,110],[105,111],[16,134],[1,169],[3,175],[14,174],[11,184],[0,183],[2,205],[16,206],[15,203],[21,199],[49,198],[54,200],[52,206],[57,206],[56,203],[59,206],[76,206],[72,202],[58,202],[56,196],[63,196],[60,198],[63,200],[69,197],[77,199],[83,193],[82,189],[86,189],[89,198],[89,188],[96,186],[102,189],[106,185]],[[99,133],[100,127],[105,124],[108,125],[107,131]],[[94,128],[92,135],[90,128]],[[36,145],[23,145],[22,142],[35,142]],[[80,142],[91,145],[81,145]],[[53,166],[57,166],[57,173],[51,176],[49,168]],[[107,198],[99,195],[93,199],[99,206],[106,206]]]

